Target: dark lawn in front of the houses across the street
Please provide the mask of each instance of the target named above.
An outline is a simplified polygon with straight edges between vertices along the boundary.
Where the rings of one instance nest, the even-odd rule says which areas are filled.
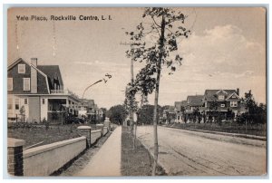
[[[168,127],[178,128],[183,130],[212,130],[229,133],[240,133],[257,136],[267,136],[267,125],[265,124],[238,124],[237,122],[222,122],[219,123],[174,123],[168,124]]]

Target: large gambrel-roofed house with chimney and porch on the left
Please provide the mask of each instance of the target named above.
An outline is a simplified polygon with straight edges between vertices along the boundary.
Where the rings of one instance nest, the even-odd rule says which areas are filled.
[[[79,98],[63,90],[63,79],[58,65],[38,65],[22,58],[7,68],[7,117],[15,120],[24,115],[29,122],[63,120],[63,112],[77,115]]]

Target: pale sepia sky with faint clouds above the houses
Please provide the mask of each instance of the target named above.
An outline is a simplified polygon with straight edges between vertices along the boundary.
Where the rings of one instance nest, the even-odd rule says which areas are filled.
[[[163,67],[160,79],[160,105],[174,105],[188,95],[207,89],[240,89],[240,97],[252,90],[257,102],[266,102],[266,10],[254,7],[179,8],[188,15],[185,22],[192,32],[178,40],[182,65],[169,75]],[[126,31],[143,22],[142,8],[12,8],[8,11],[8,61],[17,58],[38,64],[60,66],[64,88],[84,95],[99,107],[110,108],[124,101],[131,77],[131,60],[125,51]],[[16,21],[16,15],[44,16],[48,21]],[[51,15],[111,15],[105,21],[51,21]],[[17,24],[17,26],[15,25]],[[17,27],[17,28],[16,28]],[[53,28],[54,27],[54,28]],[[154,40],[146,37],[149,43]],[[17,49],[18,46],[18,49]],[[142,63],[134,63],[136,74]],[[153,95],[149,97],[153,103]]]

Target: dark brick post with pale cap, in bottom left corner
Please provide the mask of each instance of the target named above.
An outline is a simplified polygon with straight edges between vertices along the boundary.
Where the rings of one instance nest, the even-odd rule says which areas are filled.
[[[24,175],[23,146],[24,140],[7,140],[7,172],[12,176]]]

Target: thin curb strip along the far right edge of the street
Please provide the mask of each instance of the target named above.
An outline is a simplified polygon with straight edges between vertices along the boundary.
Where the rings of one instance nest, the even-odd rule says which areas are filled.
[[[166,126],[161,126],[166,127]],[[221,132],[221,131],[212,131],[212,130],[198,130],[198,129],[180,129],[178,127],[166,127],[169,129],[177,129],[177,130],[191,130],[191,131],[198,131],[203,133],[212,133],[212,134],[219,134],[219,135],[225,135],[230,137],[238,137],[238,138],[244,138],[244,139],[250,139],[250,140],[263,140],[267,141],[267,137],[262,136],[256,136],[256,135],[248,135],[248,134],[241,134],[241,133],[228,133],[228,132]]]

